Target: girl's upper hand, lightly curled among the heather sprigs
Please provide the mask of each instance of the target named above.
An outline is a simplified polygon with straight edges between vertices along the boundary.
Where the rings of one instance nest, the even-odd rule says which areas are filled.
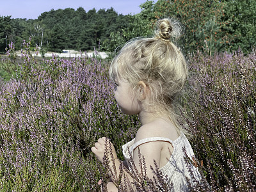
[[[111,161],[112,158],[111,153],[113,154],[114,159],[117,159],[115,147],[109,141],[108,138],[100,138],[98,142],[94,144],[94,146],[95,147],[92,147],[92,152],[95,154],[95,156],[97,157],[97,159],[99,159],[101,163],[103,163],[104,154],[106,154],[109,161]]]

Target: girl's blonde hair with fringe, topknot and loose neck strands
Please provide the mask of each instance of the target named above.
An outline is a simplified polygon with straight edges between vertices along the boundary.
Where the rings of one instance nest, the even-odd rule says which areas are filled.
[[[174,100],[186,83],[188,69],[172,40],[179,38],[182,28],[177,20],[169,18],[158,20],[156,26],[154,37],[136,38],[122,47],[111,62],[109,74],[113,81],[129,81],[137,98],[138,82],[143,81],[150,90],[150,111],[164,113],[180,130]]]

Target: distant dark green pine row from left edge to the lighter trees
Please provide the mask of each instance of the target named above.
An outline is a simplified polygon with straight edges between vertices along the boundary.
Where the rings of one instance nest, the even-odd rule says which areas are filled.
[[[109,34],[127,28],[127,15],[118,14],[113,8],[93,8],[86,12],[77,10],[51,10],[42,13],[38,19],[11,19],[0,17],[0,51],[4,52],[10,42],[22,46],[22,40],[31,37],[31,45],[48,51],[61,52],[62,49],[81,51],[93,50],[101,42],[107,42]]]

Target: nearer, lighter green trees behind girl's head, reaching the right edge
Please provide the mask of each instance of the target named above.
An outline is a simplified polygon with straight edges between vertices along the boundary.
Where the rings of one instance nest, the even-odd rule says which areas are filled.
[[[177,43],[186,54],[199,50],[211,55],[238,47],[248,52],[256,42],[255,10],[255,1],[146,1],[141,13],[129,15],[130,25],[113,32],[103,45],[113,51],[132,38],[152,35],[157,19],[175,17],[184,25],[184,35]]]

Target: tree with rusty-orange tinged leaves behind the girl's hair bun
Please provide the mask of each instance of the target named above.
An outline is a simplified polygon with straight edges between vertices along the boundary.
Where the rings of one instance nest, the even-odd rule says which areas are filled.
[[[224,3],[221,1],[166,1],[154,5],[157,19],[176,17],[185,27],[179,43],[186,53],[208,49],[209,53],[221,51],[221,15]]]

